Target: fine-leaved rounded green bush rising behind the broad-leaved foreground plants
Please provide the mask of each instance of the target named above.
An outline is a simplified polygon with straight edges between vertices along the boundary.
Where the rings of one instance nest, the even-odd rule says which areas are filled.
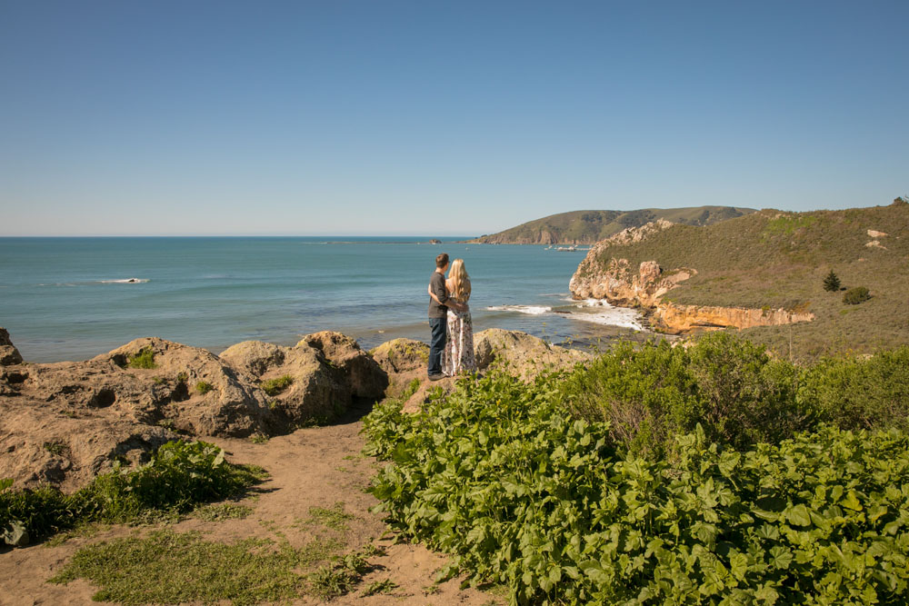
[[[687,350],[622,343],[569,374],[560,391],[576,415],[609,422],[615,443],[658,458],[698,423],[711,440],[739,447],[805,429],[816,412],[795,405],[798,375],[763,346],[713,333]]]

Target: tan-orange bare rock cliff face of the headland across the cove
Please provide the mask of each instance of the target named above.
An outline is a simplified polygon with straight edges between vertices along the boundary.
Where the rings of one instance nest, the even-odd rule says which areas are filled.
[[[569,289],[575,299],[604,299],[620,307],[640,308],[655,328],[673,334],[695,329],[751,328],[811,322],[814,313],[784,309],[751,309],[713,305],[680,305],[663,297],[679,283],[697,274],[691,267],[664,270],[655,261],[644,261],[636,268],[627,259],[612,256],[604,265],[610,247],[640,242],[673,224],[658,221],[632,227],[594,244],[574,272]]]

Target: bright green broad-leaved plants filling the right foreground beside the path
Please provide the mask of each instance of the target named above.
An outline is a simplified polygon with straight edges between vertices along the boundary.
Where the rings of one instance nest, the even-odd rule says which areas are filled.
[[[697,363],[717,393],[747,391]],[[446,572],[504,583],[517,603],[909,598],[904,433],[821,427],[738,451],[695,427],[673,462],[645,460],[611,446],[609,422],[572,418],[559,381],[489,373],[423,412],[377,406],[365,432],[388,461],[379,511],[453,554]]]

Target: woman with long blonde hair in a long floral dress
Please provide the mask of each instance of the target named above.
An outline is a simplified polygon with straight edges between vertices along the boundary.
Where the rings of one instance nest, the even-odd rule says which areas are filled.
[[[464,268],[464,259],[455,259],[448,270],[445,291],[458,303],[458,308],[448,307],[448,339],[442,354],[442,372],[448,376],[476,372],[474,357],[474,325],[470,319],[470,276]],[[438,299],[430,291],[436,302]]]

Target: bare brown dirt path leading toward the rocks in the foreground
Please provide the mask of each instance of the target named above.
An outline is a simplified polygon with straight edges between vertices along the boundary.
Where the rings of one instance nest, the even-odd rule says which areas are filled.
[[[362,414],[363,411],[360,411]],[[378,463],[360,452],[364,438],[363,423],[356,413],[339,424],[298,430],[290,435],[272,438],[265,443],[247,440],[206,438],[230,453],[234,462],[261,465],[271,477],[258,486],[260,492],[242,503],[253,512],[242,520],[204,522],[190,517],[169,525],[175,531],[201,531],[208,541],[232,542],[245,537],[275,539],[283,532],[294,547],[314,538],[310,508],[332,508],[344,504],[344,512],[353,516],[343,532],[344,551],[355,551],[369,541],[385,549],[385,555],[369,558],[375,569],[369,572],[355,591],[331,601],[332,604],[489,604],[503,603],[496,597],[473,589],[460,589],[460,579],[434,586],[435,571],[446,558],[428,551],[422,545],[395,544],[379,515],[369,512],[376,500],[365,492]],[[161,528],[111,526],[91,537],[74,537],[52,547],[43,543],[0,551],[0,604],[34,606],[35,604],[92,604],[94,586],[86,581],[66,585],[46,582],[65,566],[75,551],[86,544],[110,540]],[[324,529],[323,529],[324,530]],[[342,536],[339,534],[338,536]],[[397,585],[386,594],[365,596],[365,588],[374,581],[390,579]],[[304,597],[294,604],[317,604],[321,601]]]

